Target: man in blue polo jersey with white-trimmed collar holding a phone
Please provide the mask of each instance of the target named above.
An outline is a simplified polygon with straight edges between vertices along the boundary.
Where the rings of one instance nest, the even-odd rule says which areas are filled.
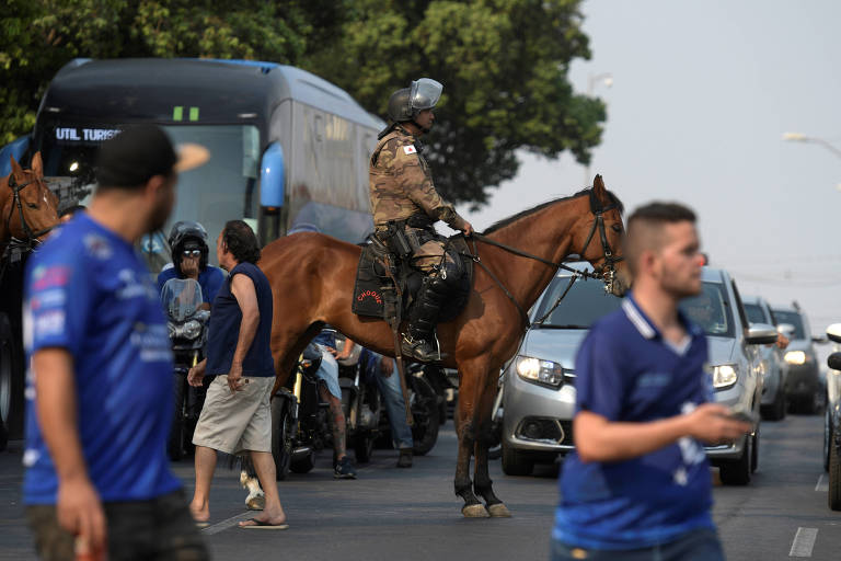
[[[633,291],[576,359],[576,451],[560,480],[552,559],[721,560],[702,442],[750,425],[710,402],[706,339],[678,310],[701,290],[695,216],[653,203],[627,221]]]

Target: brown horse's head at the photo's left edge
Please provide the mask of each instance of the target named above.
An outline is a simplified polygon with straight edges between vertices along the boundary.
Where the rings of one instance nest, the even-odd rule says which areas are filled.
[[[11,237],[32,247],[58,224],[58,197],[44,183],[41,152],[32,157],[31,170],[11,161],[12,173],[0,181],[0,243]]]

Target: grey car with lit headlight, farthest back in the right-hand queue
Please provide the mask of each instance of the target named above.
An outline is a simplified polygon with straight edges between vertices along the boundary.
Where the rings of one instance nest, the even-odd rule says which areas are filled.
[[[788,366],[785,394],[790,410],[792,413],[817,413],[823,404],[825,389],[809,320],[796,304],[775,306],[773,313],[777,327],[790,339],[783,355]]]

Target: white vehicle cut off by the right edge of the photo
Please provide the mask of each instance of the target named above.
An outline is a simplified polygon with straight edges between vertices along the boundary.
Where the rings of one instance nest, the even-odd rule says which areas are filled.
[[[833,343],[827,358],[827,411],[823,414],[823,469],[829,472],[827,502],[832,511],[841,511],[841,323],[827,328]]]

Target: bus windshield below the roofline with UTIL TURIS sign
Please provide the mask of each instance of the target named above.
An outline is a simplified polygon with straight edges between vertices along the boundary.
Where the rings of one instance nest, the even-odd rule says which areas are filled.
[[[118,134],[119,125],[72,125],[47,127],[41,147],[45,175],[72,180],[77,185],[94,182],[93,165],[103,140]],[[208,232],[212,250],[224,222],[244,219],[256,231],[260,131],[253,125],[164,126],[174,145],[194,142],[210,152],[210,160],[178,176],[177,197],[163,236],[146,240],[141,250],[152,272],[170,261],[166,239],[178,220],[200,222]],[[82,191],[83,193],[83,191]],[[150,255],[148,253],[154,253]],[[209,260],[216,264],[216,252]]]

